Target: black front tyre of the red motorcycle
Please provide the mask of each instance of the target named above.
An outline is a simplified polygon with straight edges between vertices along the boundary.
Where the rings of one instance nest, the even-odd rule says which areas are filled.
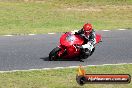
[[[60,48],[56,47],[50,52],[50,54],[49,54],[49,60],[50,61],[56,61],[57,58],[59,58],[58,55],[57,55],[59,50],[60,50]]]

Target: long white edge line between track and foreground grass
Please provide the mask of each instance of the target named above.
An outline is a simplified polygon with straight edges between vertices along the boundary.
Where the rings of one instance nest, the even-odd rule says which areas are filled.
[[[125,65],[125,64],[132,64],[132,63],[118,63],[118,64],[102,64],[102,65],[85,65],[82,67],[92,67],[92,66],[109,66],[109,65]],[[67,69],[67,68],[78,68],[78,66],[68,66],[68,67],[55,67],[55,68],[42,68],[42,69],[29,69],[29,70],[11,70],[11,71],[0,71],[0,73],[12,73],[12,72],[18,72],[18,71],[41,71],[41,70],[57,70],[57,69]]]

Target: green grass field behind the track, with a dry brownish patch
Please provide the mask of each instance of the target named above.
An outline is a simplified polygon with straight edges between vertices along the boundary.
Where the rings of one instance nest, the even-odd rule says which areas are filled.
[[[39,2],[36,2],[39,1]],[[0,34],[132,28],[132,0],[1,0]]]

